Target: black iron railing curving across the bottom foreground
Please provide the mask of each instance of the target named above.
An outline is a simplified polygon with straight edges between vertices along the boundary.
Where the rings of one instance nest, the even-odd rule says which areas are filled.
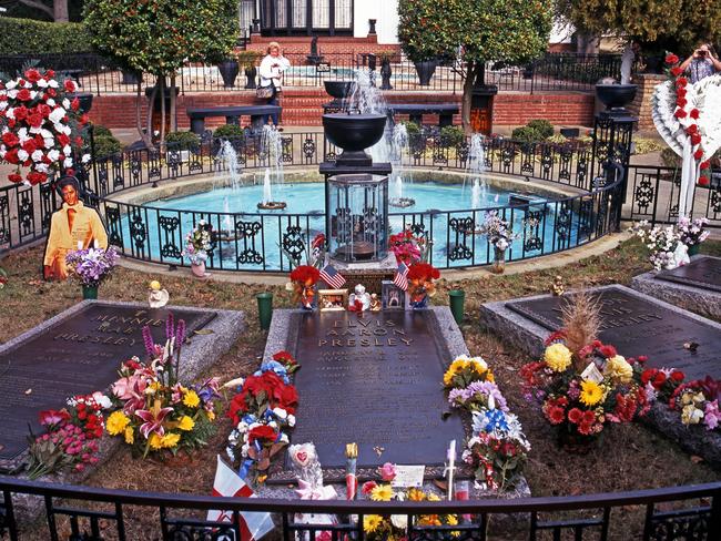
[[[131,492],[31,482],[0,477],[0,538],[17,541],[31,532],[60,539],[242,539],[241,513],[270,512],[282,539],[366,539],[369,514],[407,518],[407,539],[481,540],[489,533],[512,539],[608,539],[712,541],[721,538],[721,482],[632,492],[552,498],[439,502],[367,502],[214,498],[179,493]],[[44,503],[45,521],[34,523],[19,509]],[[41,504],[42,504],[41,503]],[[140,512],[129,510],[141,508]],[[222,508],[232,522],[205,520]],[[296,513],[331,513],[335,524],[297,522]],[[455,514],[457,525],[420,525],[419,518]],[[142,517],[139,521],[138,517]],[[461,520],[463,518],[463,520]],[[102,528],[101,528],[102,527]],[[70,532],[70,535],[68,534]],[[64,533],[63,533],[64,532]],[[38,538],[38,539],[40,539]]]

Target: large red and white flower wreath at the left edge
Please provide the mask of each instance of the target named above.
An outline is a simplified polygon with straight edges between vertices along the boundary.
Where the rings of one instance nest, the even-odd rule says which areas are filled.
[[[52,70],[27,70],[22,76],[0,81],[0,160],[16,165],[10,182],[39,184],[53,173],[74,175],[73,155],[82,147],[88,115],[71,95],[78,85],[58,81]],[[90,155],[82,156],[82,163]]]

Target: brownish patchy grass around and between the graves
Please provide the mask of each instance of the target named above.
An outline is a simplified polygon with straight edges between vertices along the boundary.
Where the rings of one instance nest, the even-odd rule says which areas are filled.
[[[702,246],[702,252],[721,255],[721,243],[708,242]],[[34,247],[11,254],[0,262],[9,274],[7,287],[0,292],[3,306],[0,314],[0,343],[80,300],[78,285],[45,283],[40,279],[41,256],[42,249]],[[719,479],[719,473],[700,459],[690,457],[671,441],[639,423],[607,430],[602,447],[588,456],[560,451],[541,414],[521,397],[518,370],[531,359],[504,343],[501,337],[486,331],[479,323],[478,308],[483,303],[547,293],[556,275],[562,277],[567,288],[577,288],[611,283],[628,284],[632,276],[648,268],[643,247],[639,242],[630,241],[603,255],[561,268],[517,275],[488,275],[454,283],[440,280],[438,294],[434,298],[436,304],[447,304],[448,289],[461,287],[466,290],[466,321],[461,330],[468,349],[473,355],[483,356],[492,367],[498,385],[511,409],[518,414],[532,443],[526,477],[534,496],[573,496]],[[101,286],[100,297],[145,302],[151,279],[161,280],[171,294],[172,304],[245,312],[247,330],[212,368],[212,374],[224,380],[253,371],[263,354],[265,334],[258,328],[255,294],[272,290],[275,307],[291,306],[290,294],[281,286],[199,282],[193,280],[187,270],[179,270],[175,276],[169,277],[118,268],[111,279]],[[223,452],[224,439],[230,429],[230,421],[221,419],[216,436],[192,463],[163,466],[150,460],[132,460],[130,452],[122,449],[109,463],[100,467],[87,484],[113,489],[210,493],[215,455]],[[156,523],[156,518],[141,508],[130,508],[126,518],[131,531],[133,528],[146,531],[151,520]],[[620,534],[616,539],[628,538]]]

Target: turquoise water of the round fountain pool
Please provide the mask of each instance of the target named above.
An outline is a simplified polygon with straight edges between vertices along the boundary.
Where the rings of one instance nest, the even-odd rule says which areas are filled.
[[[323,183],[298,183],[274,186],[273,200],[284,201],[283,211],[258,211],[263,186],[222,187],[146,203],[135,215],[123,211],[121,234],[126,252],[167,264],[187,264],[180,257],[185,234],[199,220],[210,222],[224,235],[213,254],[212,266],[229,269],[286,269],[287,258],[281,245],[298,226],[301,236],[312,238],[325,229]],[[520,259],[576,244],[579,222],[575,214],[561,211],[554,200],[518,194],[489,186],[481,190],[476,210],[471,210],[471,186],[437,182],[405,183],[403,195],[415,200],[406,208],[389,207],[389,226],[397,233],[412,223],[425,224],[433,236],[433,263],[438,267],[463,267],[492,261],[492,249],[484,235],[474,233],[484,222],[485,210],[509,204],[514,195],[530,197],[526,208],[506,210],[512,229],[520,236],[511,244],[508,259]],[[393,182],[389,196],[397,195]],[[530,213],[529,213],[530,211]],[[297,216],[302,214],[303,216]],[[140,215],[140,218],[138,216]],[[142,243],[138,243],[138,232]],[[133,223],[134,222],[134,223]],[[132,228],[131,228],[132,224]],[[134,236],[131,237],[131,229]],[[240,233],[238,233],[240,232]],[[210,262],[209,262],[210,263]]]

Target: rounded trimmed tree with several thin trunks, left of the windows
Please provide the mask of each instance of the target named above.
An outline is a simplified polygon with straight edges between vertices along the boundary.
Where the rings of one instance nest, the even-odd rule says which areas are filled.
[[[148,108],[148,132],[155,96],[165,92],[170,78],[171,131],[175,125],[175,73],[186,61],[215,62],[233,49],[237,39],[237,0],[85,0],[84,23],[92,44],[120,65],[156,76]],[[138,131],[146,145],[140,119],[141,83],[138,83]],[[165,129],[165,100],[161,100],[161,139]]]

